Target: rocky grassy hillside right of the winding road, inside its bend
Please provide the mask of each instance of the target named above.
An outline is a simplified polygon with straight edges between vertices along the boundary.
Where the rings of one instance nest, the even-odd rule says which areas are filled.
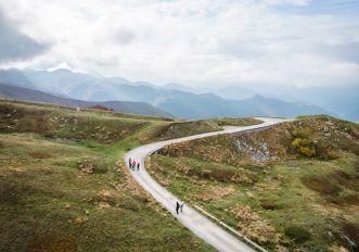
[[[317,158],[291,146],[299,137],[312,141]],[[343,234],[359,243],[358,139],[358,125],[309,117],[261,133],[174,144],[148,167],[174,193],[270,250],[349,249]],[[311,238],[294,241],[284,235],[290,226]]]

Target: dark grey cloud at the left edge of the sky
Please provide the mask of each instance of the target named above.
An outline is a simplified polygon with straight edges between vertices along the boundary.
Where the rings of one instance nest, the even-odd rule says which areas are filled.
[[[44,52],[47,48],[47,45],[22,34],[0,9],[0,63],[30,59]]]

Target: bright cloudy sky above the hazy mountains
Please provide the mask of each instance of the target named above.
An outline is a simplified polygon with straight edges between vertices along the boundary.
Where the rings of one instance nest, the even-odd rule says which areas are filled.
[[[159,85],[359,85],[359,1],[0,0],[0,67]]]

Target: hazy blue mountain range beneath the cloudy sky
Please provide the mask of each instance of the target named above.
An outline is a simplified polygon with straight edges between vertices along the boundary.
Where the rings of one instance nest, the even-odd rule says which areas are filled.
[[[196,92],[179,84],[155,86],[145,81],[132,83],[120,77],[107,78],[75,73],[69,70],[55,70],[52,72],[2,70],[0,71],[0,83],[23,88],[22,93],[25,93],[24,89],[33,89],[41,91],[42,97],[44,93],[51,94],[52,97],[48,96],[47,100],[42,100],[47,102],[51,102],[51,99],[53,99],[54,103],[66,102],[64,104],[69,104],[69,100],[72,102],[75,100],[76,104],[86,105],[86,102],[101,102],[104,104],[108,104],[108,101],[142,102],[142,106],[138,106],[141,110],[137,110],[137,113],[148,114],[150,113],[150,108],[151,113],[154,113],[154,110],[157,108],[156,115],[164,113],[167,116],[170,114],[187,119],[223,116],[334,115],[318,105],[266,98],[244,88],[223,88],[218,91],[218,96],[211,92]],[[226,93],[227,97],[225,96]],[[238,94],[235,96],[235,93]],[[35,96],[34,92],[28,92],[27,97],[25,94],[16,97],[15,94],[16,91],[13,92],[13,98],[26,100],[35,100],[34,97],[41,97],[39,93],[37,93],[39,96]],[[229,97],[228,94],[232,96]],[[138,103],[126,104],[134,106]]]

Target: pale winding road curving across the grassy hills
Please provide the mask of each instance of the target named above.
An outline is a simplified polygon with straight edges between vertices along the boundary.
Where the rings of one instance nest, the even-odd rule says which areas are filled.
[[[184,205],[183,213],[179,215],[176,214],[175,206],[176,201],[180,201],[177,197],[171,194],[166,190],[163,186],[161,186],[157,181],[155,181],[150,174],[145,171],[144,160],[151,153],[164,148],[165,146],[182,142],[188,140],[193,140],[197,138],[204,138],[209,136],[222,135],[222,134],[233,134],[240,131],[251,131],[256,129],[261,129],[266,127],[270,127],[275,124],[280,124],[283,122],[287,122],[290,119],[280,119],[280,118],[267,118],[267,117],[258,117],[264,123],[258,125],[245,126],[245,127],[226,127],[221,131],[215,133],[205,133],[200,135],[194,135],[190,137],[182,137],[171,140],[165,140],[159,142],[154,142],[145,146],[141,146],[136,148],[125,155],[125,162],[128,167],[128,159],[132,158],[136,161],[140,162],[141,169],[138,172],[132,172],[131,174],[133,178],[146,190],[149,191],[162,205],[164,205],[177,219],[185,227],[188,227],[192,232],[194,232],[197,237],[203,239],[205,242],[213,245],[218,251],[254,251],[246,243],[239,240],[233,235],[229,234],[221,227],[217,226],[215,223],[200,214],[194,209],[189,205]],[[128,167],[129,168],[129,167]]]

